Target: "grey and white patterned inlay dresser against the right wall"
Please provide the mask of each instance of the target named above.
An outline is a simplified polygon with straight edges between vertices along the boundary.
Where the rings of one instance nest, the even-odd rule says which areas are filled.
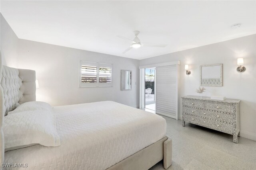
[[[209,97],[182,97],[182,125],[185,122],[233,135],[237,143],[240,133],[240,100],[212,100]]]

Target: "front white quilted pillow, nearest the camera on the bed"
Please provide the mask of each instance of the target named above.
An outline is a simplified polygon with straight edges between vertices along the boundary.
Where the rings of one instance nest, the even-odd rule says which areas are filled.
[[[60,146],[56,118],[48,110],[36,109],[8,114],[4,117],[3,132],[5,151],[36,144]]]

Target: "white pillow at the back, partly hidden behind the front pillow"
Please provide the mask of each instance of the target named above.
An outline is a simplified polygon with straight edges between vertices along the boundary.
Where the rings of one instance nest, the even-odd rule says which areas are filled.
[[[32,110],[47,110],[52,111],[52,106],[46,102],[26,102],[19,105],[13,111],[9,111],[7,115],[18,113],[22,111],[32,111]]]

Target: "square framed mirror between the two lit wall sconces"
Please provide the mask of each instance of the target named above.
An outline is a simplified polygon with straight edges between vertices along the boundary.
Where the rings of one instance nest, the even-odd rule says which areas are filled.
[[[200,66],[201,86],[222,86],[222,64]]]

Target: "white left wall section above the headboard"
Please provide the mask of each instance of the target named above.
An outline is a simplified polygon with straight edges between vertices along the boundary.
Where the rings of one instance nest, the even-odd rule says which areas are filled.
[[[18,66],[18,37],[0,14],[0,49],[2,64],[10,67]]]

